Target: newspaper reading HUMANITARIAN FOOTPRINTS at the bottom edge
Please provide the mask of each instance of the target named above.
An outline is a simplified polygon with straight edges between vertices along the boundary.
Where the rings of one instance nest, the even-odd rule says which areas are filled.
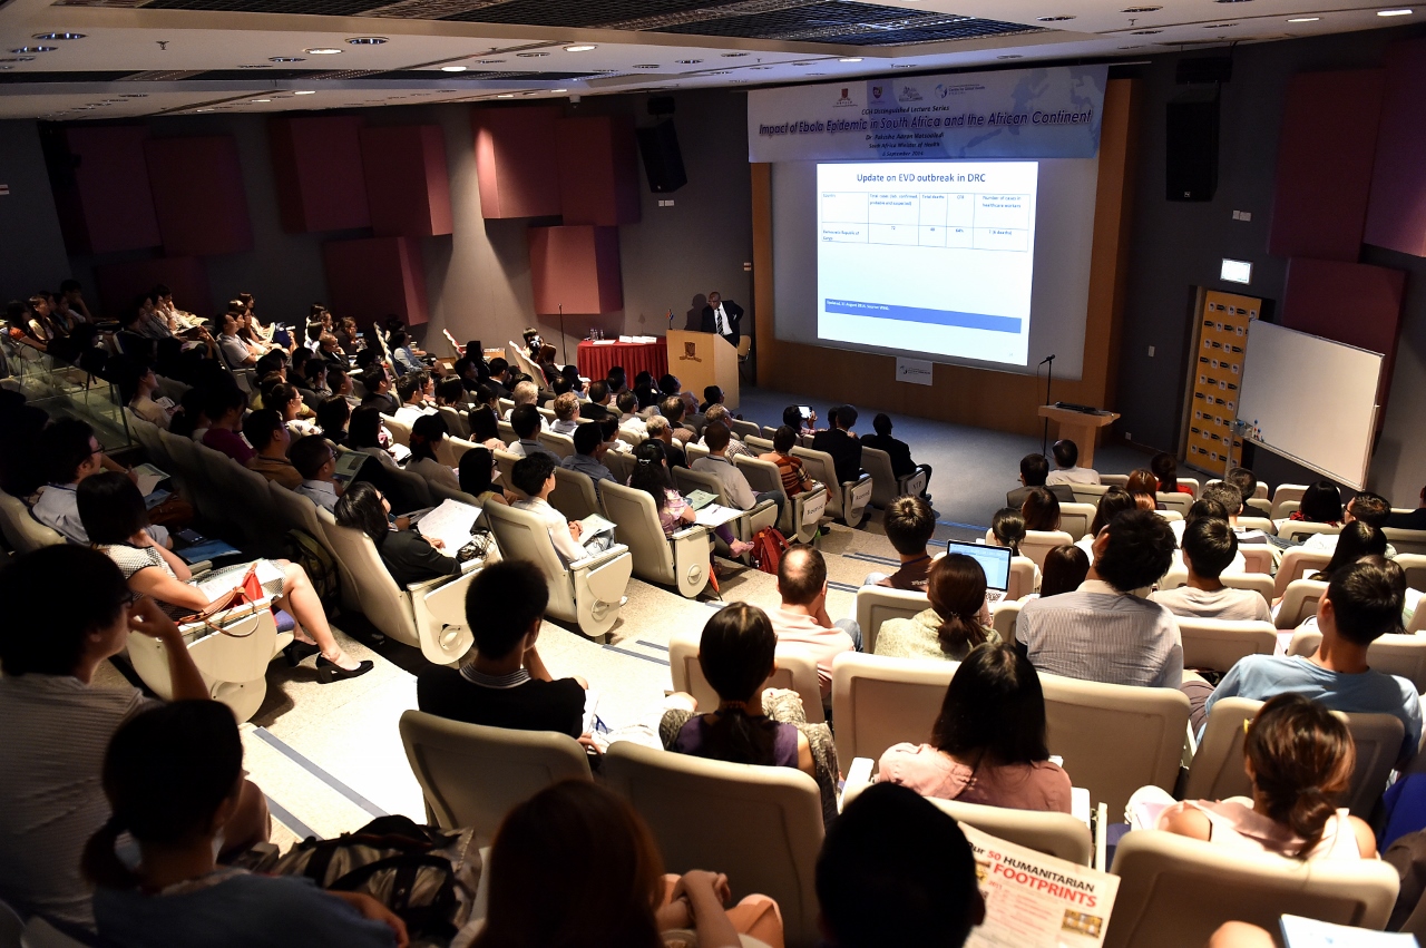
[[[974,827],[961,831],[975,854],[985,921],[967,948],[1089,948],[1102,945],[1119,878]]]

